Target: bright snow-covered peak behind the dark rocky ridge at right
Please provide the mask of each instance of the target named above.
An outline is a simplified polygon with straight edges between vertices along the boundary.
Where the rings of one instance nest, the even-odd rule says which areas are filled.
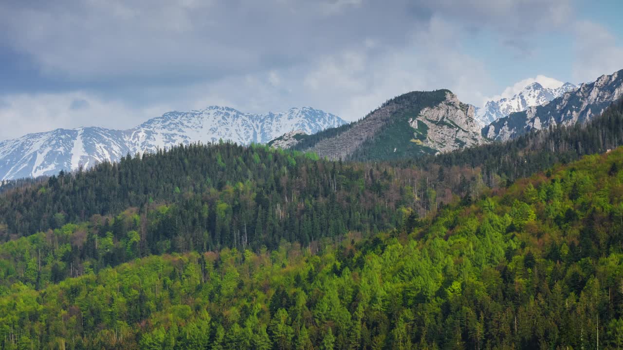
[[[550,102],[554,98],[561,97],[565,92],[575,90],[572,83],[561,83],[559,87],[544,87],[541,83],[534,82],[527,85],[519,93],[510,98],[500,98],[485,103],[482,108],[476,110],[476,120],[481,126],[487,126],[493,121],[503,118],[510,113],[525,111],[531,106],[540,106]]]

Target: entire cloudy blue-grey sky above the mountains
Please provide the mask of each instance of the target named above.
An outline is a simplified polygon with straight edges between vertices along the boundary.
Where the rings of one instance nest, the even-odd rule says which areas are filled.
[[[622,12],[620,0],[2,0],[0,140],[209,105],[356,120],[437,88],[480,105],[623,69]]]

